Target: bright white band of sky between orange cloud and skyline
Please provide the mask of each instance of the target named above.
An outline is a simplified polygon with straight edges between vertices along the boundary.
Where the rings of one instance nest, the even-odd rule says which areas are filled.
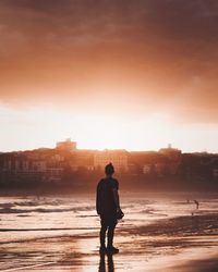
[[[171,143],[184,151],[202,151],[214,150],[213,143],[218,137],[216,127],[177,124],[164,113],[131,119],[124,114],[81,114],[51,107],[0,107],[0,151],[52,148],[68,137],[77,141],[80,149],[158,150]]]

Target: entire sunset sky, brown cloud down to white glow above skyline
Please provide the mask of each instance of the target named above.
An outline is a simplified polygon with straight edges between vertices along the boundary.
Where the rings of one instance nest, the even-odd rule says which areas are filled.
[[[218,152],[216,0],[0,0],[0,151]]]

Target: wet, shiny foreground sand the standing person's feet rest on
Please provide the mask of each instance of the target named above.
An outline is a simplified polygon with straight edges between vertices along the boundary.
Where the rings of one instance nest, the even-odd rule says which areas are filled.
[[[165,219],[136,228],[120,224],[116,245],[120,254],[100,256],[96,230],[0,242],[0,270],[217,272],[218,214]]]

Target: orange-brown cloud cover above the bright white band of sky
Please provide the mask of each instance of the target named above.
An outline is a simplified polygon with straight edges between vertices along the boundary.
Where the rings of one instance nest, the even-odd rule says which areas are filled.
[[[217,1],[1,0],[0,100],[99,107],[120,91],[119,108],[128,91],[141,113],[217,122]]]

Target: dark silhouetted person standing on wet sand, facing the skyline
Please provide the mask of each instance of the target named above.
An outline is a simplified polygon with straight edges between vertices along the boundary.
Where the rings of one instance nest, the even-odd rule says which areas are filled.
[[[120,209],[119,183],[112,177],[114,168],[109,163],[105,168],[106,177],[101,178],[97,185],[96,210],[100,217],[100,252],[118,254],[119,249],[113,247],[113,234],[119,219],[123,217]],[[106,247],[106,232],[107,247]]]

